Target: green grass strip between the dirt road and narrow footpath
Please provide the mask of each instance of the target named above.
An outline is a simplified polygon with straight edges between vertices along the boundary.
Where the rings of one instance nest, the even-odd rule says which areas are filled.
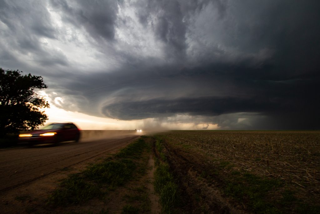
[[[114,157],[93,164],[80,173],[69,175],[49,196],[48,203],[54,206],[78,204],[105,195],[105,190],[125,184],[132,179],[134,171],[139,170],[136,159],[147,148],[148,144],[139,138]]]

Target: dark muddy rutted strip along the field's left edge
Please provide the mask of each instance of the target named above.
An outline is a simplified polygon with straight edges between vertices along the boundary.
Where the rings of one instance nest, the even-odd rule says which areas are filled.
[[[221,185],[219,178],[214,178],[215,181],[210,183],[200,178],[202,171],[210,169],[203,160],[175,149],[165,141],[163,145],[166,159],[186,193],[184,197],[187,196],[186,200],[190,203],[188,205],[189,213],[201,213],[204,211],[203,209],[209,213],[246,213],[240,207],[233,206],[228,199],[222,196],[218,188]]]

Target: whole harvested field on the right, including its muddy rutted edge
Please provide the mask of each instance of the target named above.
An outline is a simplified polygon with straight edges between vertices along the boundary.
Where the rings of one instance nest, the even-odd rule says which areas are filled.
[[[193,204],[189,211],[319,213],[319,131],[172,131],[155,138]]]

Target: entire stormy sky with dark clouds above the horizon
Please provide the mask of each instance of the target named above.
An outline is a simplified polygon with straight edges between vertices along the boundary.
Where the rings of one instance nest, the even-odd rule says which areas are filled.
[[[0,0],[0,67],[82,129],[320,129],[318,0]]]

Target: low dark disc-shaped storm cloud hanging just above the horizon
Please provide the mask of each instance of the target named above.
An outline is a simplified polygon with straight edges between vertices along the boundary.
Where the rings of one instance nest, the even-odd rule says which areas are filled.
[[[178,74],[167,76],[156,72],[148,73],[149,75],[146,75],[147,72],[135,72],[134,76],[129,73],[123,76],[101,74],[99,78],[96,77],[95,86],[102,85],[102,81],[105,81],[107,86],[93,88],[85,97],[89,103],[95,103],[97,95],[105,93],[110,100],[102,105],[101,113],[122,120],[185,113],[211,117],[248,112],[259,113],[260,116],[268,116],[268,119],[275,121],[273,124],[266,119],[260,124],[256,122],[255,128],[317,126],[317,120],[312,120],[309,115],[317,118],[319,101],[314,93],[318,91],[319,78],[265,80],[263,76],[257,75],[252,75],[252,78],[240,77],[237,71],[244,69],[243,67],[233,68],[233,72],[232,68],[223,68],[223,71],[229,71],[228,74],[214,72],[222,68],[215,68],[213,65],[213,71],[197,67],[193,71],[182,70]],[[190,88],[192,91],[188,91]],[[181,97],[181,94],[184,94],[184,97]],[[306,116],[308,123],[303,123]],[[221,122],[221,117],[210,120],[204,122],[218,123],[221,126],[225,122]],[[251,120],[254,121],[254,118]]]

